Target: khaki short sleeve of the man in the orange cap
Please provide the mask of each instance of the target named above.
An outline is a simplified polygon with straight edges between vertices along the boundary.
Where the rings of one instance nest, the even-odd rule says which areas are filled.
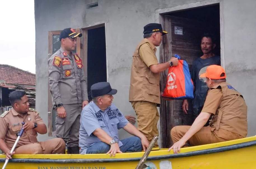
[[[222,96],[223,94],[221,89],[209,89],[205,99],[205,104],[201,112],[212,113],[215,115],[217,109],[220,106]]]

